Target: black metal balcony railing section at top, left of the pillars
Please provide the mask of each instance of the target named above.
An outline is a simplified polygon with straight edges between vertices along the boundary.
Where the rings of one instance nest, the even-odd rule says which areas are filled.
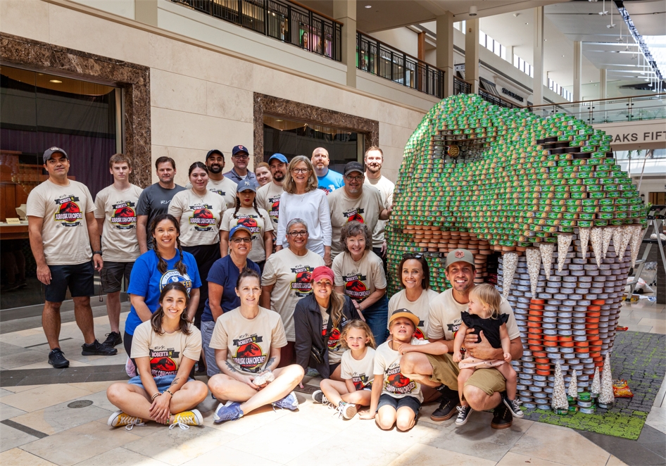
[[[171,0],[272,39],[341,61],[342,23],[280,0]]]

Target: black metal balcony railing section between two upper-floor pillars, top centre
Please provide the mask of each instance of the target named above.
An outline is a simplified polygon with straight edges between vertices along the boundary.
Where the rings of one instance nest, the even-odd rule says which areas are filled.
[[[356,68],[403,86],[444,97],[444,71],[356,32]]]

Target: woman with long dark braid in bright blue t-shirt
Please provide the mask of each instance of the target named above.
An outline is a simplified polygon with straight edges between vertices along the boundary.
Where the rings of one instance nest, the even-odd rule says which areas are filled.
[[[189,294],[187,319],[194,320],[199,306],[201,279],[196,260],[180,246],[180,225],[169,214],[158,215],[151,223],[150,236],[153,249],[137,258],[130,276],[130,315],[125,321],[125,335],[122,339],[127,355],[132,357],[132,335],[134,329],[146,322],[160,307],[159,298],[164,286],[170,282],[182,282]]]

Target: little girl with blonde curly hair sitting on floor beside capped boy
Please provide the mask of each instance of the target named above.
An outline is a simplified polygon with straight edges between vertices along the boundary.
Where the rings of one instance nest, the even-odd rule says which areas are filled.
[[[315,403],[324,403],[337,410],[344,419],[356,415],[358,405],[370,405],[375,365],[375,337],[363,320],[352,320],[340,335],[342,353],[340,377],[344,382],[324,379],[321,389],[312,394]]]

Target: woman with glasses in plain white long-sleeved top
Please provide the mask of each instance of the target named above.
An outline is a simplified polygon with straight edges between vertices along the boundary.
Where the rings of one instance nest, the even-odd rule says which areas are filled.
[[[312,162],[305,156],[296,156],[289,162],[284,177],[284,193],[279,200],[276,251],[287,246],[287,223],[292,218],[302,218],[308,224],[310,251],[324,258],[327,266],[331,260],[331,211],[326,194],[318,189],[319,181]]]

